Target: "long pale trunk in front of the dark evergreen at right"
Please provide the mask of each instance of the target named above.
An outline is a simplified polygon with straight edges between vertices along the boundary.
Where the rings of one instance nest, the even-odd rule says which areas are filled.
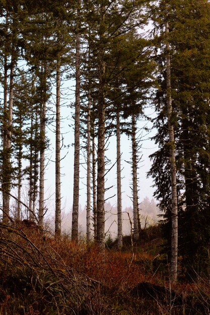
[[[178,252],[178,206],[177,206],[177,187],[176,187],[176,157],[175,157],[175,140],[174,125],[172,121],[172,99],[171,99],[171,60],[170,45],[168,41],[169,25],[166,22],[166,83],[167,83],[167,116],[170,143],[170,171],[171,171],[171,281],[177,280],[177,252]]]

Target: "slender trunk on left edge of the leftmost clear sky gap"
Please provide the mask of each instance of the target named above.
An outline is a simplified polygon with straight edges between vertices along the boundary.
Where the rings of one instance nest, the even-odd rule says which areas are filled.
[[[42,103],[40,106],[40,164],[39,164],[39,225],[44,224],[44,169],[45,169],[45,124],[46,124],[46,92],[47,66],[41,65]]]

